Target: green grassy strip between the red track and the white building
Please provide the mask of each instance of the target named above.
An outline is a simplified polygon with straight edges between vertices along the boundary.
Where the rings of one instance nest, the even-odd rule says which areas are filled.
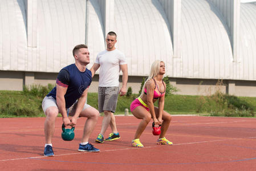
[[[44,117],[41,104],[45,91],[35,92],[35,89],[32,92],[27,89],[0,91],[0,117]],[[130,104],[137,96],[119,96],[115,114],[124,114],[124,109],[130,109]],[[97,109],[97,93],[88,93],[87,103]],[[168,95],[165,97],[164,110],[172,115],[253,117],[251,113],[256,111],[256,97]]]

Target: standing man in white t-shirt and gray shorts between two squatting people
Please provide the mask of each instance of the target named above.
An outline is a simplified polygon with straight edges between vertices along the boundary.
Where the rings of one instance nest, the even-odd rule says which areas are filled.
[[[116,34],[108,32],[106,43],[107,49],[100,52],[91,68],[92,77],[100,67],[99,88],[98,88],[98,105],[99,112],[104,112],[104,118],[101,125],[101,131],[95,140],[98,143],[104,143],[104,134],[110,125],[112,133],[105,141],[113,141],[120,139],[119,132],[116,128],[115,113],[117,97],[126,93],[128,80],[127,62],[124,54],[115,48]],[[119,73],[123,72],[123,86],[119,91]]]

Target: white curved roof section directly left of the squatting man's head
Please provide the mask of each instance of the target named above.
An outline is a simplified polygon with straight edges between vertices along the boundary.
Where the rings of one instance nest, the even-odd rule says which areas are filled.
[[[34,71],[59,72],[74,63],[72,50],[85,42],[85,9],[83,0],[38,1],[38,48]]]

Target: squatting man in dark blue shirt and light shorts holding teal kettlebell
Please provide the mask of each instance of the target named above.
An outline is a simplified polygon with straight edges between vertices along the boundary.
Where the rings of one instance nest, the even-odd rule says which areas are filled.
[[[44,156],[54,156],[52,150],[52,137],[54,136],[55,120],[58,113],[62,115],[65,127],[75,127],[78,117],[87,117],[83,129],[82,142],[79,144],[81,152],[99,152],[92,144],[88,143],[89,137],[97,123],[99,111],[86,104],[88,87],[92,82],[92,73],[86,68],[90,63],[90,53],[85,44],[79,44],[73,49],[75,63],[60,70],[56,87],[52,89],[42,102],[46,115],[44,122]],[[68,116],[72,116],[70,119]]]

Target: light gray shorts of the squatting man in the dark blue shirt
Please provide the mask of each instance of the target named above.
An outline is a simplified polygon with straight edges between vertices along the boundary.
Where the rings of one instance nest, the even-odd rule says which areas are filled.
[[[67,108],[67,113],[68,113],[68,115],[73,116],[73,115],[75,114],[75,111],[76,111],[76,104],[78,104],[78,100],[76,100],[75,103],[74,103],[70,108]],[[46,97],[44,97],[44,99],[43,99],[42,108],[43,108],[44,114],[46,113],[46,109],[47,109],[48,107],[56,107],[56,108],[58,108],[58,107],[57,107],[57,102],[56,102],[56,100],[54,99],[54,97],[52,97],[52,96],[46,96]],[[91,107],[91,105],[85,103],[85,104],[84,104],[84,107],[83,107],[83,109],[82,109],[82,111],[83,111],[84,109],[87,109],[88,107]]]

